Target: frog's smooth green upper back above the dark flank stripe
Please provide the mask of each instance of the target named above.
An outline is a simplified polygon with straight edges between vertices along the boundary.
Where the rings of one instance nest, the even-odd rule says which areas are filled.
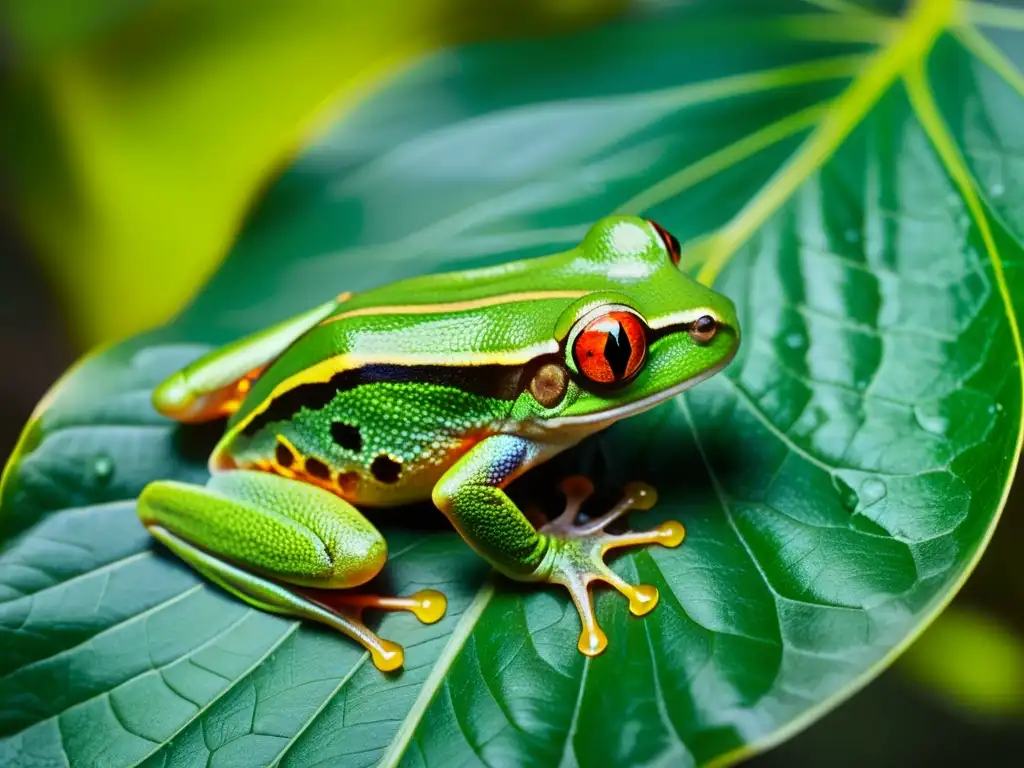
[[[550,287],[538,281],[537,265],[544,262],[552,262],[551,278],[544,281]],[[515,366],[530,354],[524,348],[529,342],[522,341],[532,338],[537,324],[550,317],[553,327],[565,306],[585,293],[565,289],[571,285],[560,274],[565,263],[559,255],[430,274],[346,297],[260,375],[229,427],[251,419],[285,391],[327,382],[345,371],[367,369],[360,377],[366,382],[376,381],[378,373],[393,380],[396,369],[422,366],[450,373],[485,361]],[[493,383],[493,376],[483,378]]]

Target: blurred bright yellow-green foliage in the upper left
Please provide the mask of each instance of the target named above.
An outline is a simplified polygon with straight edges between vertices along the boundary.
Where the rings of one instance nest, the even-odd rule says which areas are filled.
[[[0,148],[17,220],[86,348],[167,319],[253,195],[417,54],[553,34],[620,0],[7,0]]]

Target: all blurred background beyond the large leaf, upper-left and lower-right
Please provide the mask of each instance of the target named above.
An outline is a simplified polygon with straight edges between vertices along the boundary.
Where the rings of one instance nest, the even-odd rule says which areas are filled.
[[[625,5],[4,0],[0,455],[75,356],[189,300],[328,112],[429,50],[558,34]],[[1020,497],[965,591],[897,667],[756,762],[946,763],[957,743],[965,759],[1020,754]]]

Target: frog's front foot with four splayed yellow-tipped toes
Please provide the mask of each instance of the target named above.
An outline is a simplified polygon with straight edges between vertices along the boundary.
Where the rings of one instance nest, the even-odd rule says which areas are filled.
[[[657,589],[646,584],[632,585],[625,582],[604,563],[604,555],[613,549],[642,544],[659,544],[678,547],[685,530],[674,520],[663,522],[650,530],[627,534],[606,534],[604,528],[631,509],[650,509],[657,501],[657,494],[650,485],[633,482],[626,486],[622,500],[608,512],[580,525],[575,523],[580,507],[594,486],[586,477],[572,476],[561,483],[565,495],[565,511],[541,528],[550,540],[550,548],[538,575],[548,582],[560,584],[569,591],[583,632],[580,634],[580,651],[596,656],[608,645],[608,639],[597,624],[594,601],[590,593],[592,582],[611,585],[630,601],[630,612],[644,615],[657,605]]]

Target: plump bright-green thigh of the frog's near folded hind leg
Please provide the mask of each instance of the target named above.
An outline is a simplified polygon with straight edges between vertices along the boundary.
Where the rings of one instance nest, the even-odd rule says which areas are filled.
[[[216,474],[205,487],[155,482],[139,498],[139,516],[162,541],[159,528],[218,560],[302,587],[355,587],[387,559],[383,537],[350,504],[264,472]]]

